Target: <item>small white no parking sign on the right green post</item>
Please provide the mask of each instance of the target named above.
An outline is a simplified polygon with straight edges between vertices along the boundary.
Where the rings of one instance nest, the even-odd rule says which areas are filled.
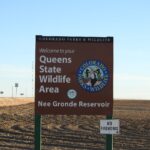
[[[119,119],[100,120],[100,134],[119,134],[120,121]]]

